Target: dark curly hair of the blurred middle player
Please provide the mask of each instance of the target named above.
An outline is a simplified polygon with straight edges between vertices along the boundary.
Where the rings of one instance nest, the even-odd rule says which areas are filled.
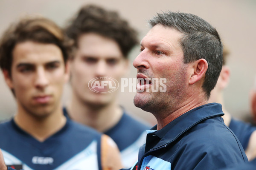
[[[83,6],[78,14],[69,21],[65,31],[75,41],[76,47],[79,36],[89,32],[115,40],[125,58],[138,43],[137,31],[131,28],[116,11],[107,11],[95,5]]]

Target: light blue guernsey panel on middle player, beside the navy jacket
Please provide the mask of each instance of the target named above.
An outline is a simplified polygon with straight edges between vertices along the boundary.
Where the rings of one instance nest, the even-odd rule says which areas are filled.
[[[133,144],[122,150],[121,159],[124,167],[131,167],[131,164],[138,161],[138,148],[145,143],[146,136],[147,133],[145,131]]]

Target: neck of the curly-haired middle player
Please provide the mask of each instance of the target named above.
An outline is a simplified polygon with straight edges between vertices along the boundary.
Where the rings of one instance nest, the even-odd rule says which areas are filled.
[[[102,133],[116,125],[123,113],[116,101],[106,105],[93,105],[79,100],[74,95],[67,104],[67,112],[74,121],[93,127]]]

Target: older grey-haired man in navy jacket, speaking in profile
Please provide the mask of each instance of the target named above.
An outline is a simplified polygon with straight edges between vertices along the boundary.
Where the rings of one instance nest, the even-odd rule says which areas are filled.
[[[208,103],[222,67],[215,28],[180,12],[158,14],[134,60],[138,83],[134,105],[151,112],[157,125],[131,170],[216,170],[247,162],[243,148],[221,118],[221,105]],[[151,90],[166,78],[166,92]]]

